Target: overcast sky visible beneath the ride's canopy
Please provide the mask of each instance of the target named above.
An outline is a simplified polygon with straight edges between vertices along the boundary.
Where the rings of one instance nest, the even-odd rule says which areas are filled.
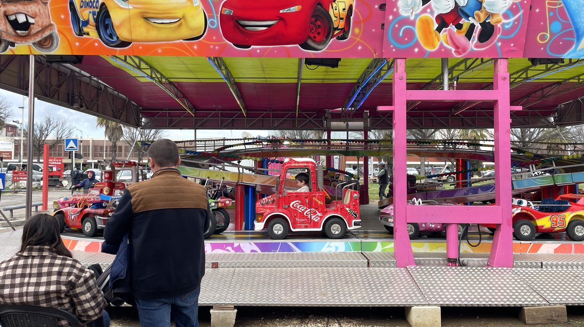
[[[13,124],[13,120],[22,120],[22,110],[18,107],[22,106],[22,96],[16,93],[12,93],[6,90],[0,90],[0,96],[6,98],[8,103],[12,103],[13,114],[8,123]],[[28,122],[28,98],[25,98],[25,125]],[[70,121],[70,125],[74,128],[72,136],[78,138],[103,138],[103,128],[96,127],[95,116],[84,114],[79,111],[71,110],[68,108],[63,108],[60,106],[55,106],[54,104],[46,103],[40,100],[36,100],[34,104],[34,121],[41,121],[47,115],[54,115],[58,118],[64,117]],[[75,128],[81,129],[83,134]],[[241,138],[240,130],[215,130],[215,129],[199,129],[197,131],[197,139],[208,139],[208,138]],[[270,131],[249,131],[253,137],[255,136],[267,136]],[[166,135],[171,139],[194,139],[194,132],[190,130],[179,130],[179,129],[168,129],[166,130]]]

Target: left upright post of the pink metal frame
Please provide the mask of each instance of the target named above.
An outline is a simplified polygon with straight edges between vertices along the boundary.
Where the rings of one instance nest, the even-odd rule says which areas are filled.
[[[394,59],[394,78],[392,81],[394,114],[394,257],[398,267],[415,265],[412,244],[406,223],[408,205],[407,181],[407,144],[406,144],[406,74],[405,59]]]

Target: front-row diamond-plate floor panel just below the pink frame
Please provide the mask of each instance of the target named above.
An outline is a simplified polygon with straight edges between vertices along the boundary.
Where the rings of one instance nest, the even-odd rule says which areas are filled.
[[[512,268],[412,266],[407,269],[429,305],[439,307],[549,305],[543,297],[513,273],[515,269]]]

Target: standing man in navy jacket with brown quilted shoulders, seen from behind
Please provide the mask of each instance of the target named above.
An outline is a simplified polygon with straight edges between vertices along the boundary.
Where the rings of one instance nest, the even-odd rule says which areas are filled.
[[[154,175],[130,185],[107,220],[105,243],[128,235],[130,293],[141,327],[199,326],[199,291],[205,273],[204,226],[210,222],[206,189],[180,176],[176,143],[150,145]],[[106,245],[105,244],[105,245]]]

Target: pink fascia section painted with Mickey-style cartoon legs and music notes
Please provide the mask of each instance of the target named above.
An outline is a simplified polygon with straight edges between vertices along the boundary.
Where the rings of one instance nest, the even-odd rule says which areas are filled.
[[[385,30],[384,57],[584,58],[582,0],[388,0]]]

